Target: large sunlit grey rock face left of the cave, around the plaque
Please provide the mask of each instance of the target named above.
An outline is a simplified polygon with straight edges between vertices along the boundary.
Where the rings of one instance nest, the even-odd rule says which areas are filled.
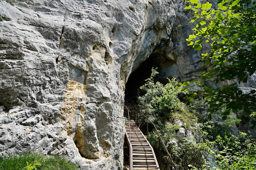
[[[175,20],[170,0],[0,0],[0,156],[122,169],[125,83]],[[135,8],[135,10],[134,10]],[[86,83],[69,80],[75,66]]]

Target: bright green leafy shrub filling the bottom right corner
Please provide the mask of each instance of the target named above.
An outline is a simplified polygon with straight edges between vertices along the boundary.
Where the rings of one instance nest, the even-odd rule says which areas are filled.
[[[209,163],[203,165],[203,168],[197,168],[190,165],[191,169],[198,170],[255,170],[256,169],[256,143],[252,137],[246,133],[240,132],[239,136],[217,136],[209,144],[208,150],[217,158],[216,163],[219,167],[211,167]],[[219,152],[212,150],[212,146],[218,146]]]

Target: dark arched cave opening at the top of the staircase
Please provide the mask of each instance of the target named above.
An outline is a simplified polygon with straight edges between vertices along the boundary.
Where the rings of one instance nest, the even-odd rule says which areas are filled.
[[[173,66],[176,65],[175,58],[173,54],[166,54],[161,47],[158,47],[153,50],[147,60],[145,60],[139,67],[137,67],[129,76],[128,81],[125,85],[125,102],[128,105],[129,116],[130,119],[137,122],[137,110],[134,108],[134,104],[136,103],[136,99],[138,96],[138,89],[145,84],[145,80],[150,78],[152,67],[156,68],[159,74],[154,78],[154,82],[159,81],[162,84],[167,84],[169,81],[167,78],[174,77]],[[142,95],[142,94],[140,94]],[[124,115],[127,112],[127,109],[124,109]],[[139,116],[140,114],[138,114]],[[145,121],[146,122],[146,121]],[[144,135],[147,134],[147,126],[145,126],[145,122],[140,122],[137,124],[140,127],[140,130]],[[154,129],[154,126],[149,123],[148,124],[148,132],[151,132]],[[135,132],[135,131],[134,131]],[[133,132],[133,133],[134,133]],[[132,133],[131,133],[132,134]],[[134,139],[133,139],[134,140]],[[124,167],[129,167],[129,145],[128,141],[124,142]],[[157,149],[157,148],[154,148]],[[157,156],[158,159],[158,156]],[[159,159],[158,159],[159,160]],[[132,166],[132,165],[131,165]],[[128,169],[128,168],[127,168]]]

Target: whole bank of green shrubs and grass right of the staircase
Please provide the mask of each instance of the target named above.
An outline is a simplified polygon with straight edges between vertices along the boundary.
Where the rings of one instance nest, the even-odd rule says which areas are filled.
[[[188,91],[175,79],[166,85],[154,82],[157,73],[152,69],[151,77],[140,87],[137,103],[140,111],[156,125],[175,164],[184,170],[255,168],[255,142],[245,133],[240,132],[237,137],[230,133],[230,128],[240,120],[234,115],[223,120],[225,105],[212,114],[214,118],[209,121],[209,112],[206,112],[209,104],[181,102],[179,96],[188,94]],[[139,122],[144,126],[143,117]],[[154,130],[149,133],[149,141],[157,150],[158,135]],[[165,153],[163,148],[161,152]],[[209,154],[216,157],[218,168],[206,161]]]

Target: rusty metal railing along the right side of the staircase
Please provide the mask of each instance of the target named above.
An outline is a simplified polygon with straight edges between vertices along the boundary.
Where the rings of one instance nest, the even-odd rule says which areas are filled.
[[[126,107],[126,106],[125,106]],[[165,143],[163,143],[163,140],[162,140],[162,138],[161,138],[161,136],[160,136],[160,134],[159,134],[159,132],[158,132],[158,130],[156,129],[156,126],[154,125],[154,123],[152,123],[143,113],[141,113],[140,111],[139,111],[139,109],[137,108],[137,107],[135,107],[135,106],[133,106],[134,108],[136,108],[136,110],[137,110],[137,124],[138,124],[138,112],[142,115],[142,116],[144,116],[146,119],[147,119],[147,140],[148,140],[148,121],[154,126],[154,128],[155,128],[155,130],[156,130],[156,133],[157,133],[157,135],[158,135],[158,153],[159,153],[159,168],[161,169],[161,150],[160,150],[160,147],[161,147],[161,143],[162,143],[162,145],[163,145],[163,148],[165,148],[165,151],[166,151],[166,153],[167,153],[167,155],[169,156],[169,158],[170,158],[170,160],[171,160],[171,163],[172,163],[172,166],[173,166],[173,168],[174,168],[174,170],[177,170],[177,168],[176,168],[176,166],[175,166],[175,164],[174,164],[174,162],[173,162],[173,160],[172,160],[172,158],[171,158],[171,155],[170,155],[170,153],[168,152],[168,150],[167,150],[167,148],[166,148],[166,146],[165,146]],[[127,107],[126,107],[127,108]],[[129,111],[128,111],[129,112]],[[131,159],[130,159],[131,160]],[[131,165],[131,164],[130,164]]]

